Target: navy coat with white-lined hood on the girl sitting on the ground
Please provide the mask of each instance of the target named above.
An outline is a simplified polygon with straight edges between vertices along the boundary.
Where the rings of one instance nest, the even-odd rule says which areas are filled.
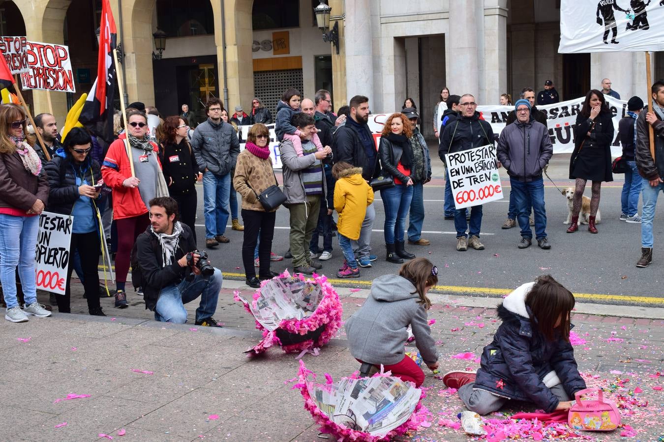
[[[550,413],[559,402],[544,385],[544,378],[549,378],[552,370],[570,397],[586,388],[586,382],[578,372],[572,345],[560,336],[556,341],[547,341],[533,326],[537,319],[530,319],[533,313],[525,305],[525,296],[534,284],[523,284],[498,305],[503,323],[491,344],[484,347],[474,388],[533,402]],[[550,386],[555,384],[558,382]]]

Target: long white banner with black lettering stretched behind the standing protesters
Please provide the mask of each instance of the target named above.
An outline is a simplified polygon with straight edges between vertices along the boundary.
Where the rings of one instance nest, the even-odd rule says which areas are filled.
[[[614,142],[611,144],[612,156],[622,154],[620,137],[618,137],[618,122],[627,114],[627,101],[618,100],[610,95],[604,95],[609,109],[614,115]],[[576,98],[560,103],[537,106],[537,110],[546,115],[548,135],[551,137],[554,154],[570,153],[574,150],[574,127],[576,116],[583,107],[585,97]],[[514,110],[514,106],[477,106],[486,121],[491,124],[493,133],[499,135],[505,128],[507,115]]]

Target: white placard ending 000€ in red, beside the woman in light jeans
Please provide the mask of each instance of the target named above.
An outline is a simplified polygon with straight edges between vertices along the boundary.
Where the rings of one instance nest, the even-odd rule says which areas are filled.
[[[39,215],[35,272],[37,288],[64,295],[74,217],[43,211]]]

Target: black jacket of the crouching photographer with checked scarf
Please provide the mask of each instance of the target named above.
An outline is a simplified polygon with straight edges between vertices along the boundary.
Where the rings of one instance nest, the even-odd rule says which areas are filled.
[[[180,242],[173,256],[173,264],[163,266],[163,251],[157,236],[152,233],[152,226],[136,238],[136,258],[141,266],[143,285],[143,299],[145,308],[154,310],[159,299],[159,292],[165,287],[179,284],[186,276],[191,274],[191,267],[181,267],[177,260],[196,249],[196,241],[191,229],[185,223],[182,225]]]

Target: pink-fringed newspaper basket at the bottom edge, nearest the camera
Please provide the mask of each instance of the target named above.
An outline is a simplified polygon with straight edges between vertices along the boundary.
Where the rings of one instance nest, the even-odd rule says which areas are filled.
[[[360,378],[357,372],[334,382],[325,373],[325,384],[299,361],[299,389],[304,408],[321,425],[321,432],[337,441],[388,441],[426,423],[428,410],[422,406],[426,396],[412,382],[404,382],[380,372]]]

